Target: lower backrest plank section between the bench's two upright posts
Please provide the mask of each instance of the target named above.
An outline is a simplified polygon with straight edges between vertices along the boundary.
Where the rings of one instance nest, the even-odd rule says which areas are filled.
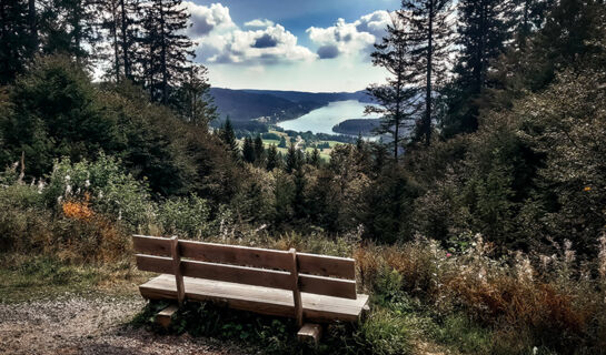
[[[181,270],[183,276],[292,290],[290,273],[284,271],[193,261],[181,261]]]

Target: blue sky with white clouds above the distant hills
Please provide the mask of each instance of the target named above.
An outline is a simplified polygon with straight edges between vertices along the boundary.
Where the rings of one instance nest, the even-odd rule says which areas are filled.
[[[372,67],[399,0],[183,1],[196,62],[218,88],[358,91],[383,82]]]

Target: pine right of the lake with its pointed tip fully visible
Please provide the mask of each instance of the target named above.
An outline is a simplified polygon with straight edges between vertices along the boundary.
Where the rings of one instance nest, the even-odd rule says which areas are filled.
[[[367,105],[366,113],[379,113],[381,124],[377,134],[389,133],[393,139],[394,159],[398,159],[400,136],[416,113],[414,99],[417,89],[411,87],[415,73],[411,68],[410,47],[401,16],[395,16],[387,26],[387,37],[375,44],[372,64],[386,69],[390,78],[386,84],[372,84],[366,90],[378,105]]]

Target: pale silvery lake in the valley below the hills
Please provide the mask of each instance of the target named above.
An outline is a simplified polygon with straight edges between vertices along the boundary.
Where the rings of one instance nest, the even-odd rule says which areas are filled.
[[[366,103],[356,100],[335,101],[298,119],[279,122],[278,126],[297,132],[337,134],[332,132],[332,126],[345,120],[378,118],[376,114],[364,115],[365,106]]]

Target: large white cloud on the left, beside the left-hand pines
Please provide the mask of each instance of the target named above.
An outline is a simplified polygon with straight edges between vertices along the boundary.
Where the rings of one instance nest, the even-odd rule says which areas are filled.
[[[280,24],[265,19],[245,23],[242,30],[220,3],[210,7],[187,2],[191,12],[190,36],[198,43],[197,57],[207,63],[284,63],[317,58],[297,37]]]

